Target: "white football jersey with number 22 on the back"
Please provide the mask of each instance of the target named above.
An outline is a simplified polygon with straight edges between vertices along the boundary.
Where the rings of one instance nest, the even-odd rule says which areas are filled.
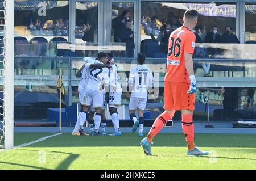
[[[96,61],[95,64],[103,64],[100,61]],[[108,68],[92,68],[89,69],[89,80],[88,80],[88,89],[105,92],[105,87],[101,90],[101,85],[109,83],[109,69]]]

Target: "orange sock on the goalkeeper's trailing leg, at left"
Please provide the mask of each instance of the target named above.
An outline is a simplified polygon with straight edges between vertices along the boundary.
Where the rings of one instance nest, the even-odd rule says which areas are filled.
[[[156,136],[156,134],[159,133],[159,131],[164,127],[164,125],[171,119],[171,117],[174,115],[170,115],[167,111],[164,111],[158,118],[156,118],[154,124],[152,125],[152,128],[150,129],[150,132],[147,135],[147,141],[152,142],[153,138]]]

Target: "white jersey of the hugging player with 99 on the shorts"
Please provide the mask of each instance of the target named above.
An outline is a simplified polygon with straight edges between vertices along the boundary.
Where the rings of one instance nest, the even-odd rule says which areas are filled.
[[[112,69],[110,70],[110,75],[109,75],[109,92],[122,92],[122,87],[119,83],[119,77],[118,77],[118,69],[117,69],[117,65],[112,65]]]

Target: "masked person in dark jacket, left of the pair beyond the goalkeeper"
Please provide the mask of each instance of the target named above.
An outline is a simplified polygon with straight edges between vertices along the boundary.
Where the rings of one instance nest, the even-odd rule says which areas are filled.
[[[218,27],[213,26],[212,31],[207,33],[205,36],[204,43],[212,44],[212,43],[221,43],[221,35],[218,33]],[[212,58],[218,56],[220,54],[220,49],[218,48],[208,48],[208,54],[211,55]]]

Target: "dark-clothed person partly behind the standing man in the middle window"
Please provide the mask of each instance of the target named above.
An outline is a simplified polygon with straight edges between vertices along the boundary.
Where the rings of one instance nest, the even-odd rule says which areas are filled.
[[[129,10],[123,11],[122,15],[117,16],[117,18],[113,19],[114,24],[114,41],[121,42],[119,37],[120,31],[125,28],[125,24],[130,20],[131,12]]]

